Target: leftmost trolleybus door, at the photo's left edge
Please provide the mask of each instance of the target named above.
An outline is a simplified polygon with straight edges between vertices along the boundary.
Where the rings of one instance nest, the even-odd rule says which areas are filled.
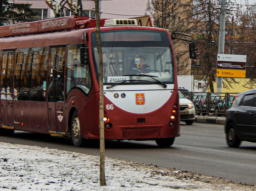
[[[1,66],[2,125],[13,126],[13,64],[14,51],[3,51]]]

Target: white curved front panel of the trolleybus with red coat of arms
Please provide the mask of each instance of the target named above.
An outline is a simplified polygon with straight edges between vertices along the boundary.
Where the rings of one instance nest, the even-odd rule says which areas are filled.
[[[104,96],[116,107],[131,113],[149,113],[162,107],[172,95],[174,84],[104,86]]]

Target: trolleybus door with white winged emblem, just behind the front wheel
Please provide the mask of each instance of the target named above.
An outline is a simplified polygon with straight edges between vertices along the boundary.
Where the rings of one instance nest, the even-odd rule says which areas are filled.
[[[64,68],[66,47],[51,47],[48,70],[49,130],[65,132]]]

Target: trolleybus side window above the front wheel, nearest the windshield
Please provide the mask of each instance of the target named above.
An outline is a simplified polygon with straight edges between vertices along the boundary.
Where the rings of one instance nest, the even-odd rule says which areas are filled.
[[[69,44],[66,69],[66,95],[74,88],[81,88],[86,94],[89,93],[92,81],[89,61],[81,63],[80,47],[83,44]]]

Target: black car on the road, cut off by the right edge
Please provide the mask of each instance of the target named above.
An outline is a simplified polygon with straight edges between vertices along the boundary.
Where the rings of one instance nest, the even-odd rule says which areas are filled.
[[[227,110],[225,134],[229,147],[239,147],[241,141],[256,142],[256,89],[239,94]]]

